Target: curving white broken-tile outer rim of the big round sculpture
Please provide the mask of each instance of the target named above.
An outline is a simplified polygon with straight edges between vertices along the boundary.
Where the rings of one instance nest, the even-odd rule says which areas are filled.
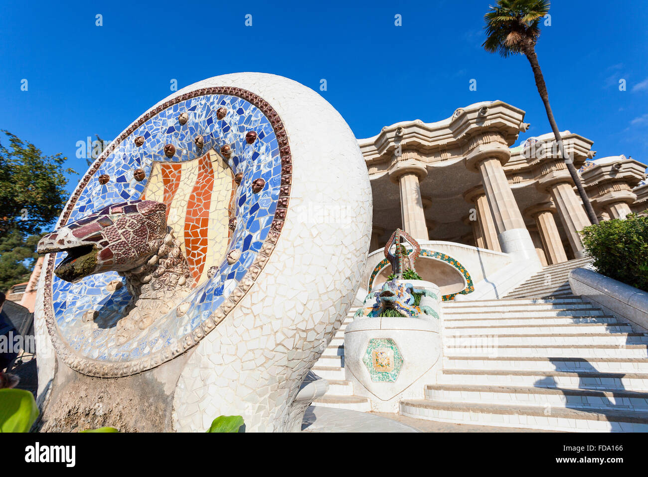
[[[292,430],[291,404],[360,285],[371,233],[367,168],[344,119],[305,86],[237,73],[198,82],[257,93],[279,113],[293,155],[290,208],[269,262],[225,321],[191,351],[174,398],[178,431],[240,414],[246,430]],[[291,421],[291,418],[292,421]]]

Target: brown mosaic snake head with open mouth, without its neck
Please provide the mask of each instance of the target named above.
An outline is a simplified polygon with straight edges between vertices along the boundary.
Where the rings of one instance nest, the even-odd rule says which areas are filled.
[[[143,265],[162,245],[166,212],[167,206],[156,201],[111,204],[41,238],[38,253],[67,252],[54,269],[66,282],[106,271],[128,271]]]

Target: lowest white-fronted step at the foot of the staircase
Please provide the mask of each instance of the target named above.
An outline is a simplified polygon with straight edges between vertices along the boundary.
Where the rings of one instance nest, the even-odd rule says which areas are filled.
[[[464,404],[424,399],[400,401],[400,413],[430,421],[522,427],[570,432],[647,432],[645,413],[605,411],[601,413],[538,406]]]

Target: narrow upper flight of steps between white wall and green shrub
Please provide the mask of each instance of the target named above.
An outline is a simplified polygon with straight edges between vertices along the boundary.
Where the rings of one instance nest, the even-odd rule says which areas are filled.
[[[504,298],[569,297],[572,295],[568,282],[570,271],[578,267],[586,267],[590,262],[592,262],[591,258],[583,257],[544,267],[526,282],[504,295]]]

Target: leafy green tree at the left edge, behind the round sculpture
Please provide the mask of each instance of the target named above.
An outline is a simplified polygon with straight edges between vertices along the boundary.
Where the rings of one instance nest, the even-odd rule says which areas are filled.
[[[60,215],[67,192],[62,154],[43,156],[6,130],[0,141],[0,291],[26,282],[36,262],[43,228]],[[8,142],[8,147],[6,143]]]

